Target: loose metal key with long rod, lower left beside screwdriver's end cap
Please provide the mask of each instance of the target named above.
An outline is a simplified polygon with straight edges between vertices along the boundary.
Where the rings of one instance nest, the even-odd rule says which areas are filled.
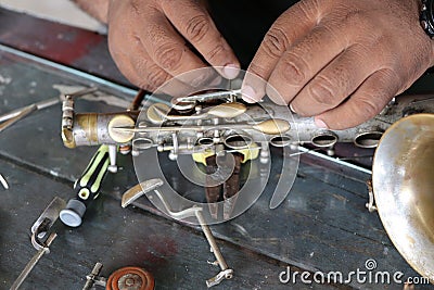
[[[54,222],[59,217],[61,209],[65,206],[65,201],[55,197],[51,203],[47,206],[43,213],[38,217],[35,224],[31,226],[31,244],[38,251],[31,260],[24,267],[23,272],[16,278],[14,283],[11,286],[10,290],[16,290],[24,282],[27,276],[30,274],[31,269],[36,266],[39,260],[44,255],[50,253],[50,245],[53,240],[58,237],[55,232],[50,232],[49,230],[53,226]],[[49,235],[48,235],[49,234]],[[46,236],[48,238],[46,241],[41,241]]]

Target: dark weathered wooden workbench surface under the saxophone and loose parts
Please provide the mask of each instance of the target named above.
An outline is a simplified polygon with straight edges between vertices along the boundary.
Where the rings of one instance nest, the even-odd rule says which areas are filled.
[[[0,10],[0,18],[1,43],[86,72],[53,67],[2,47],[0,114],[58,97],[60,92],[53,85],[97,85],[122,99],[132,97],[131,89],[92,78],[98,75],[128,85],[110,60],[103,36],[5,10]],[[62,51],[53,51],[58,49],[53,39],[41,42],[41,36],[21,30],[35,25],[42,31],[62,34],[62,38],[55,35],[51,38],[58,39],[60,47],[76,45],[77,51],[84,49],[82,53],[62,56]],[[33,35],[31,40],[28,34]],[[40,41],[39,47],[35,41]],[[82,101],[78,110],[116,109]],[[34,112],[0,134],[0,174],[10,185],[9,190],[0,188],[1,289],[9,289],[36,252],[29,240],[33,223],[54,197],[68,200],[74,196],[73,182],[97,150],[71,150],[63,146],[61,111],[58,104]],[[368,174],[311,156],[303,156],[301,161],[289,198],[278,209],[268,209],[270,192],[266,190],[246,213],[212,226],[224,256],[234,270],[231,280],[224,280],[214,289],[403,288],[356,280],[349,285],[304,285],[299,280],[294,285],[279,280],[288,266],[291,272],[345,275],[358,268],[366,270],[368,260],[376,262],[375,270],[419,276],[393,247],[378,214],[366,210]],[[81,289],[95,262],[104,265],[105,277],[124,266],[141,266],[154,275],[156,289],[206,289],[205,280],[216,275],[218,268],[207,263],[214,261],[214,255],[200,228],[164,216],[145,198],[136,206],[122,209],[122,193],[135,186],[137,179],[130,156],[120,156],[118,162],[120,171],[107,175],[101,197],[88,209],[80,227],[68,228],[56,223],[59,237],[51,253],[36,265],[22,289]],[[170,161],[163,163],[165,166],[169,171]],[[271,182],[277,178],[271,177]]]

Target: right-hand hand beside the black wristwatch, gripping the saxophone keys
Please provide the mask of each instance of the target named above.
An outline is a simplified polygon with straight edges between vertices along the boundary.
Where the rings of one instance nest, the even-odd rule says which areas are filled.
[[[279,92],[323,128],[372,118],[434,65],[418,2],[302,0],[275,22],[247,70],[268,85],[247,76],[244,96],[257,101],[267,91],[282,103]]]

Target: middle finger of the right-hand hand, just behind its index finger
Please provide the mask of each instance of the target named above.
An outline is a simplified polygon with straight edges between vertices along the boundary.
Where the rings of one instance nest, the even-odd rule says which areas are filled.
[[[333,31],[331,31],[333,29]],[[318,25],[288,50],[271,73],[269,84],[290,103],[303,87],[347,47],[340,27]],[[269,94],[270,98],[272,93]],[[295,112],[297,112],[295,110]]]

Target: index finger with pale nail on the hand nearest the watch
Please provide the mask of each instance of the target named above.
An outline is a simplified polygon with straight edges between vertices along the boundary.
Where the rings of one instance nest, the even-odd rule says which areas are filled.
[[[316,11],[317,9],[309,1],[301,1],[286,10],[272,24],[244,77],[245,101],[258,101],[264,97],[267,84],[264,80],[269,79],[283,53],[317,24]]]

